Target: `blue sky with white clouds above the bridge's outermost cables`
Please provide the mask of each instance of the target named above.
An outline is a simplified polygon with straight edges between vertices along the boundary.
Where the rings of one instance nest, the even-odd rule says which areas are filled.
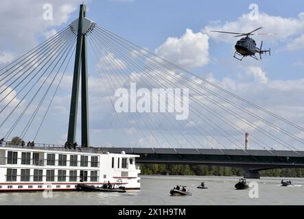
[[[18,0],[3,1],[0,18],[5,31],[0,36],[0,65],[5,66],[47,36],[69,25],[78,17],[80,2],[49,1],[54,6],[54,21],[43,21],[43,1],[30,0],[27,4]],[[252,3],[259,6],[257,21],[248,19]],[[86,5],[88,17],[98,25],[304,126],[304,119],[298,116],[304,115],[303,1],[89,0]],[[260,31],[262,33],[275,34],[253,36],[258,45],[263,40],[264,49],[272,49],[271,57],[263,55],[263,60],[259,61],[248,57],[243,62],[235,60],[233,54],[237,38],[209,31],[245,32],[258,27],[264,27]],[[186,64],[185,60],[188,61]],[[52,131],[51,137],[41,134],[40,142],[65,142],[71,70],[56,96],[55,110],[47,120],[60,126],[60,129]],[[110,123],[106,117],[113,113],[105,109],[97,113],[98,109],[94,108],[98,97],[96,77],[91,69],[90,81],[94,83],[91,120],[95,124],[91,127],[92,142],[94,145],[115,141],[126,144],[115,139],[121,131],[109,134],[102,131],[109,127],[96,125]],[[108,106],[108,103],[104,104]],[[56,112],[56,109],[63,110]],[[3,132],[0,130],[0,133]],[[295,134],[304,137],[302,132]]]

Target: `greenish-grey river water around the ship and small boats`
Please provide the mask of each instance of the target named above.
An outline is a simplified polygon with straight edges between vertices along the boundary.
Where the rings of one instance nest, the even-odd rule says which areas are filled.
[[[0,205],[304,205],[304,179],[290,179],[295,184],[292,187],[280,186],[281,179],[277,178],[248,180],[248,183],[257,182],[259,198],[250,198],[250,189],[235,190],[238,179],[141,176],[140,191],[124,194],[53,192],[51,198],[45,198],[43,192],[2,193]],[[196,189],[201,181],[208,190]],[[176,185],[187,185],[192,196],[170,196],[169,190]]]

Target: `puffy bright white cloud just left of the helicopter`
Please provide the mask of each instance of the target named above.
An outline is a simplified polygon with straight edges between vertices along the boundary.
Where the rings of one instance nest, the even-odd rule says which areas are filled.
[[[187,29],[180,38],[167,38],[155,53],[186,68],[204,66],[209,63],[209,37]]]

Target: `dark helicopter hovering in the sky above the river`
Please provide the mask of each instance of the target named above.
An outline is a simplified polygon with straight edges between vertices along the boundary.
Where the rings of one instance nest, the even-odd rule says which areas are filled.
[[[263,47],[263,41],[261,41],[261,47],[257,47],[257,43],[253,38],[250,38],[249,36],[252,35],[272,35],[272,34],[253,34],[255,31],[258,31],[259,29],[262,29],[263,27],[259,27],[255,29],[254,31],[251,31],[250,33],[247,34],[242,34],[242,33],[234,33],[234,32],[224,32],[224,31],[211,31],[211,32],[216,32],[216,33],[222,33],[222,34],[235,34],[237,36],[235,37],[242,37],[245,36],[244,38],[240,39],[237,41],[235,44],[235,54],[233,57],[235,57],[237,60],[242,61],[244,57],[250,56],[253,57],[255,60],[258,60],[257,56],[255,53],[259,53],[259,58],[261,60],[261,54],[264,53],[269,53],[270,54],[270,49],[269,50],[262,50]]]

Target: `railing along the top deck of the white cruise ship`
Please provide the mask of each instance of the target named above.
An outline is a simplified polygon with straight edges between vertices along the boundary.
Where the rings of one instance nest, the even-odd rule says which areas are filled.
[[[62,151],[62,152],[77,152],[77,153],[101,153],[105,154],[108,151],[104,151],[102,149],[93,148],[93,147],[67,147],[59,144],[40,144],[34,143],[34,146],[27,146],[21,144],[13,144],[12,142],[2,142],[0,143],[0,148],[13,148],[13,149],[33,149],[33,150],[40,150],[40,151]]]

